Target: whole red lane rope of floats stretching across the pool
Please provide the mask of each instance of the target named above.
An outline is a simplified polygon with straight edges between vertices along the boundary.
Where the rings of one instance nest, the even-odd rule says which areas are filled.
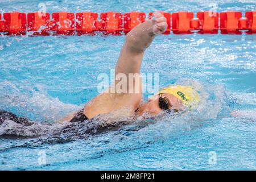
[[[167,19],[167,30],[163,34],[256,34],[256,11],[247,11],[242,17],[240,11],[226,11],[222,13],[203,11],[194,13],[179,11],[167,13],[160,11]],[[25,13],[10,12],[0,14],[0,33],[5,35],[94,35],[96,31],[103,34],[127,34],[139,23],[146,20],[143,12],[117,13],[109,11],[100,14],[92,12],[82,13]],[[3,19],[2,19],[3,18]],[[148,14],[148,19],[152,13]],[[220,20],[220,21],[219,21]]]

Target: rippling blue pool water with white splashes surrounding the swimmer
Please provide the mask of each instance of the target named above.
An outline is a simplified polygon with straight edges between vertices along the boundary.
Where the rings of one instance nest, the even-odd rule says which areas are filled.
[[[4,0],[0,10],[28,13],[41,2],[49,13],[255,9],[255,1]],[[97,95],[97,77],[110,74],[124,40],[0,37],[0,110],[36,121],[31,127],[8,121],[0,126],[1,170],[256,169],[256,35],[158,36],[145,53],[142,72],[159,73],[160,87],[197,86],[203,97],[199,109],[136,121],[134,126],[149,123],[140,130],[130,125],[91,137],[77,125],[61,133],[63,125],[54,122]]]

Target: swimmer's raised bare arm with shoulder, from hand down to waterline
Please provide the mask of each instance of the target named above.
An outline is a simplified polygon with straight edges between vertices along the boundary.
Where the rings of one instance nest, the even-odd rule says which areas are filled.
[[[114,84],[85,105],[84,115],[86,117],[93,118],[95,115],[111,113],[114,110],[118,110],[118,115],[128,116],[138,108],[142,98],[141,79],[135,76],[135,81],[131,84],[128,80],[129,73],[139,73],[145,49],[150,46],[156,35],[161,34],[167,28],[166,18],[162,14],[156,12],[153,16],[154,19],[139,24],[127,34],[115,67]],[[120,88],[121,84],[117,78],[119,73],[125,74],[127,78],[126,86],[122,85]],[[136,81],[137,78],[139,82]],[[126,110],[120,110],[120,108],[126,108]]]

